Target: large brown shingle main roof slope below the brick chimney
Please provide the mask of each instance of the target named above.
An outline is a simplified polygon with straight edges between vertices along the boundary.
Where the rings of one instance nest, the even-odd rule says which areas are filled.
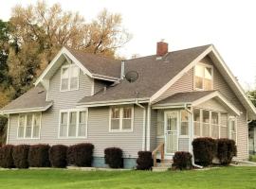
[[[151,97],[209,46],[170,52],[162,60],[156,60],[155,55],[126,60],[125,73],[137,71],[137,81],[129,83],[123,79],[115,87],[109,87],[106,92],[83,97],[79,103]]]

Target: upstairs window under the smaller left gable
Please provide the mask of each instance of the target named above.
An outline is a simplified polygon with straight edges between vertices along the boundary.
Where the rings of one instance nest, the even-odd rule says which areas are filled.
[[[61,91],[79,89],[79,67],[74,64],[62,67]]]

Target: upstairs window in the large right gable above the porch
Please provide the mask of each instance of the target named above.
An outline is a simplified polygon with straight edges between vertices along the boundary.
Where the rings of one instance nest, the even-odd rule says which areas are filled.
[[[212,67],[198,64],[194,67],[194,88],[212,90]]]

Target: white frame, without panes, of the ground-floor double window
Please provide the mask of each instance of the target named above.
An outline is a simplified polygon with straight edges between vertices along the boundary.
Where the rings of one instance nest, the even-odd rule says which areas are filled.
[[[111,129],[111,120],[112,120],[112,109],[119,109],[119,129]],[[131,108],[131,129],[122,129],[122,119],[123,119],[123,109]],[[133,132],[134,131],[134,106],[123,106],[123,107],[109,107],[109,132]]]

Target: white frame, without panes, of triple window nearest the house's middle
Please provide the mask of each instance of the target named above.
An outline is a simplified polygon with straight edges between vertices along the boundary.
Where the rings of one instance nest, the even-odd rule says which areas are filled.
[[[66,117],[66,136],[61,136],[61,124],[62,124],[62,113],[66,112],[67,113],[67,117]],[[68,136],[68,130],[69,130],[69,117],[70,117],[70,112],[76,112],[76,136]],[[86,114],[86,120],[85,120],[85,136],[79,136],[78,135],[78,128],[79,128],[79,116],[80,116],[80,112],[85,112]],[[59,130],[58,130],[58,139],[78,139],[78,138],[82,138],[82,139],[86,139],[88,136],[88,115],[89,115],[89,110],[88,109],[65,109],[65,110],[61,110],[60,114],[59,114]]]

